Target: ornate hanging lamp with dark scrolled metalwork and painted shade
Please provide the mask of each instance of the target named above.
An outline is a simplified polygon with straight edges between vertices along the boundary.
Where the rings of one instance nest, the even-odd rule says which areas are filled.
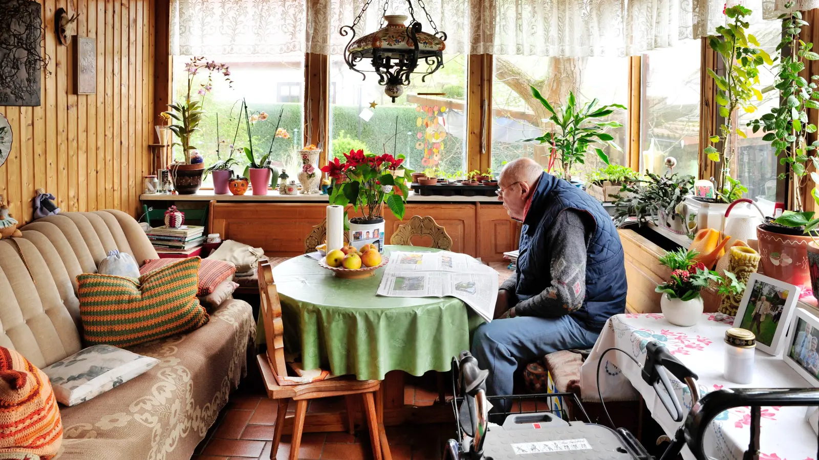
[[[384,11],[387,11],[389,2],[389,0],[384,2]],[[422,32],[421,23],[415,19],[412,2],[407,0],[411,18],[409,25],[404,25],[407,16],[387,15],[384,16],[384,20],[387,21],[385,27],[356,40],[355,26],[364,16],[369,3],[364,3],[364,7],[359,15],[355,16],[352,25],[343,25],[338,31],[342,37],[351,34],[350,42],[347,43],[344,50],[344,61],[351,70],[360,73],[364,79],[366,79],[364,72],[378,74],[378,84],[384,86],[384,92],[395,102],[396,98],[404,92],[403,87],[409,85],[409,74],[423,74],[421,81],[425,81],[428,75],[435,73],[444,65],[443,51],[446,48],[446,32],[438,30],[423,2],[419,2],[434,34]],[[356,68],[356,65],[364,59],[372,63],[373,70]],[[423,61],[423,64],[427,66],[426,71],[415,71],[419,61]],[[371,108],[375,108],[373,104],[370,104]]]

